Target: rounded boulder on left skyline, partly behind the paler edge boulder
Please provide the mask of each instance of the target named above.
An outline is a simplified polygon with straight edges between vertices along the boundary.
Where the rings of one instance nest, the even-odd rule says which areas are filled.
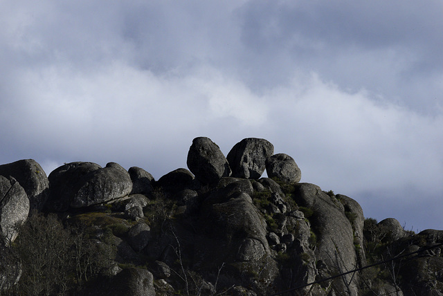
[[[0,175],[12,176],[25,189],[30,208],[42,210],[49,196],[49,181],[42,167],[33,159],[0,165]]]

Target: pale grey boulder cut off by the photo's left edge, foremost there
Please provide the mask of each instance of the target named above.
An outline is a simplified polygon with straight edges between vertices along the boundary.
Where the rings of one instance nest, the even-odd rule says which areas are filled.
[[[17,226],[26,221],[29,199],[25,190],[14,179],[0,176],[0,239],[9,245],[17,237]]]

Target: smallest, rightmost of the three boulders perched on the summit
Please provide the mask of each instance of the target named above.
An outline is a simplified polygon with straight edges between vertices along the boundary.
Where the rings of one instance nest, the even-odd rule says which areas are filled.
[[[284,153],[274,154],[266,159],[266,172],[269,178],[276,177],[286,183],[298,183],[302,178],[302,171],[296,160]]]

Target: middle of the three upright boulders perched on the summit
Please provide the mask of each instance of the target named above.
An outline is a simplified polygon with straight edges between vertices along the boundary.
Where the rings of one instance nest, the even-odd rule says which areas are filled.
[[[266,158],[274,153],[271,142],[258,139],[246,138],[230,149],[228,159],[233,177],[258,179],[266,168]]]

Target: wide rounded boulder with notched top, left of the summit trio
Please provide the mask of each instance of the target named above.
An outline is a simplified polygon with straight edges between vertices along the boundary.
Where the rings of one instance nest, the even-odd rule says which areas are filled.
[[[64,211],[105,203],[132,191],[129,173],[117,163],[100,167],[96,163],[68,163],[49,175],[50,210]]]

